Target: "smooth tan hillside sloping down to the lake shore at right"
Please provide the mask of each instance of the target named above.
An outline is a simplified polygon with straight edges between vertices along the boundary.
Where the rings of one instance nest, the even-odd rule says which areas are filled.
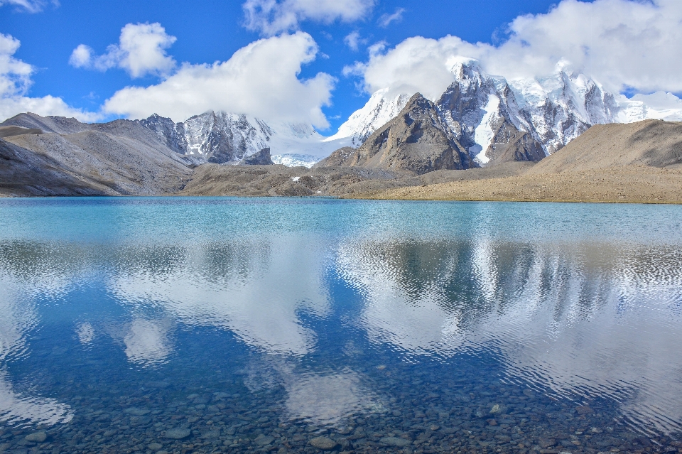
[[[517,174],[357,195],[413,200],[682,203],[682,123],[592,126]]]

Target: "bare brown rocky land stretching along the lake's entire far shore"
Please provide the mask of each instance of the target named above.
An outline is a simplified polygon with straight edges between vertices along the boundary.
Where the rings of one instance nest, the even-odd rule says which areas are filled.
[[[413,107],[421,102],[418,98],[415,101]],[[416,108],[428,113],[428,105],[421,104]],[[408,122],[405,117],[400,121],[403,126]],[[72,132],[57,134],[28,126]],[[384,151],[374,147],[374,141],[364,151],[360,151],[362,147],[336,151],[323,165],[310,169],[267,165],[271,162],[268,148],[254,155],[253,165],[194,167],[153,134],[134,131],[137,126],[131,122],[112,122],[98,130],[74,131],[79,129],[76,126],[61,120],[59,124],[1,126],[4,139],[0,139],[0,195],[331,195],[418,200],[682,202],[682,123],[642,121],[593,126],[539,163],[510,161],[485,168],[429,172],[420,171],[426,169],[422,164],[433,165],[437,161],[433,156],[443,156],[443,150],[449,153],[448,146],[454,151],[449,141],[436,140],[440,151],[416,153],[413,161],[408,159],[409,148],[401,148],[404,142],[400,145],[396,141],[399,145],[394,151],[402,151],[385,153],[384,163],[391,163],[386,166],[377,158]],[[403,126],[399,130],[406,134],[409,128]],[[390,129],[381,130],[392,134]],[[524,140],[523,136],[517,139]],[[514,151],[513,144],[513,140],[507,141],[504,153],[529,150],[526,144]],[[372,149],[379,151],[372,154]],[[405,156],[401,158],[400,153]],[[356,165],[349,165],[349,160]],[[403,166],[406,162],[416,164]]]

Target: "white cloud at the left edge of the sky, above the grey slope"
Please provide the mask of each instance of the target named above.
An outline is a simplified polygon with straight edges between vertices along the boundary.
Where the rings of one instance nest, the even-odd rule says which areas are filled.
[[[82,121],[94,121],[99,118],[97,114],[69,107],[58,97],[26,96],[33,83],[31,75],[35,69],[13,57],[20,45],[18,39],[0,33],[0,119],[7,119],[21,112],[62,115]]]

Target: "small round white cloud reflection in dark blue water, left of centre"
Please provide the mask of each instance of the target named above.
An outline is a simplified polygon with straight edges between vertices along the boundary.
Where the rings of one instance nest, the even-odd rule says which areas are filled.
[[[168,320],[133,320],[127,325],[123,342],[131,362],[146,366],[166,362],[173,350],[168,340],[171,323]]]

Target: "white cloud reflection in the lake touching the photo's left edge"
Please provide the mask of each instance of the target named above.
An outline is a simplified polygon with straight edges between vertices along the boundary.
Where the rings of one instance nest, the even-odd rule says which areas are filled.
[[[37,324],[36,309],[19,297],[20,286],[0,272],[0,422],[67,423],[70,407],[55,399],[25,396],[13,390],[4,362],[28,354],[26,333]]]

